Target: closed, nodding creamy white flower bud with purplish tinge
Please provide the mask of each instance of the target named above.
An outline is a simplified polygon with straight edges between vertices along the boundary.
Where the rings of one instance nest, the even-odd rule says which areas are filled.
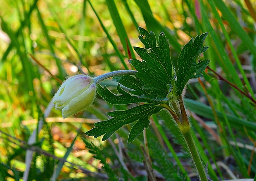
[[[62,117],[83,111],[92,104],[96,94],[96,84],[87,75],[75,75],[66,79],[53,98],[55,109],[62,110]]]

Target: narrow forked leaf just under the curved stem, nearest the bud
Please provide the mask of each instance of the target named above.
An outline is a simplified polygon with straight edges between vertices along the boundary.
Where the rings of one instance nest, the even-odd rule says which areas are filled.
[[[100,85],[97,86],[97,93],[103,97],[103,99],[110,104],[116,104],[116,105],[123,105],[123,104],[133,104],[133,103],[139,103],[139,102],[149,102],[153,103],[154,101],[149,99],[142,99],[138,96],[132,96],[125,90],[123,90],[120,86],[120,84],[117,85],[117,91],[121,93],[121,95],[115,95],[114,93],[111,93],[107,89],[106,86],[102,87]]]

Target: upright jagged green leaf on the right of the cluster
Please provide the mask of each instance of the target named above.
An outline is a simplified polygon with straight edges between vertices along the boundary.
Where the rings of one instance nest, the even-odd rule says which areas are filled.
[[[178,95],[181,95],[189,79],[203,76],[202,73],[210,62],[210,60],[202,60],[197,63],[198,56],[209,48],[208,46],[203,46],[207,35],[208,32],[197,36],[195,39],[190,39],[180,52],[177,72]]]

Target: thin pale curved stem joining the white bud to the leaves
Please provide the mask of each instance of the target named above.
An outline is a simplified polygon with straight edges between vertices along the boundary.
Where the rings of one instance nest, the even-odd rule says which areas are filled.
[[[101,81],[104,81],[105,79],[119,76],[119,75],[135,75],[137,71],[136,70],[116,70],[113,72],[108,72],[106,74],[99,75],[97,77],[93,78],[93,81],[95,84],[99,84]]]

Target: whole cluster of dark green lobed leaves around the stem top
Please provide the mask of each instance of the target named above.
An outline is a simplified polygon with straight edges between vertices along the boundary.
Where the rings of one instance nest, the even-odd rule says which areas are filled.
[[[112,80],[119,82],[115,95],[106,86],[97,86],[97,93],[111,104],[133,104],[145,102],[125,111],[113,111],[107,113],[110,118],[106,121],[95,123],[85,134],[88,136],[99,137],[104,135],[102,140],[106,140],[119,128],[126,124],[134,123],[130,130],[128,143],[136,139],[145,128],[149,127],[149,117],[156,114],[168,104],[168,100],[175,99],[181,95],[187,81],[192,78],[202,76],[209,60],[197,63],[200,53],[206,51],[208,47],[203,47],[203,42],[207,33],[197,36],[195,40],[190,40],[180,53],[178,58],[177,75],[173,76],[170,48],[168,39],[164,32],[161,32],[156,43],[156,36],[153,32],[140,28],[140,41],[145,48],[134,47],[134,50],[142,58],[140,60],[129,60],[137,72],[133,75],[116,76]],[[177,77],[177,79],[176,79]],[[129,92],[120,86],[131,89]],[[178,94],[177,94],[178,93]]]

